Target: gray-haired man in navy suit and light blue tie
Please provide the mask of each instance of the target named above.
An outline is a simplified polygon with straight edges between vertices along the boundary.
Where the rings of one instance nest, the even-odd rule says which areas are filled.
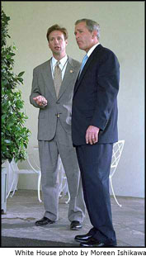
[[[116,245],[109,174],[113,143],[118,140],[120,67],[115,54],[99,43],[99,31],[96,21],[82,19],[75,23],[78,47],[87,52],[74,87],[72,109],[73,145],[93,226],[86,235],[75,237],[84,247]]]

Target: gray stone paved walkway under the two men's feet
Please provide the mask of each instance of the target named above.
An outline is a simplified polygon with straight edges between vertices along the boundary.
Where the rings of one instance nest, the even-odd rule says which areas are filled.
[[[45,247],[45,243],[46,246],[49,243],[50,247],[54,247],[56,242],[59,246],[62,244],[62,247],[78,247],[74,236],[86,234],[91,228],[90,220],[86,213],[82,230],[70,230],[66,200],[67,198],[59,200],[59,220],[52,225],[40,227],[35,225],[35,221],[44,216],[44,205],[38,201],[37,192],[18,190],[13,197],[7,199],[7,214],[2,214],[2,246],[9,243],[11,247],[13,243],[13,247],[19,247],[23,238],[28,247],[36,244],[38,247]],[[122,207],[111,197],[117,246],[144,247],[144,199],[118,197],[118,201]]]

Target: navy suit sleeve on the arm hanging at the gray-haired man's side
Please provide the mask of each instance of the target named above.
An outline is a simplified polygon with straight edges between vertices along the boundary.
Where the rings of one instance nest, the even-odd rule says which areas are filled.
[[[96,109],[91,126],[105,130],[119,91],[120,66],[112,52],[106,53],[97,72]]]

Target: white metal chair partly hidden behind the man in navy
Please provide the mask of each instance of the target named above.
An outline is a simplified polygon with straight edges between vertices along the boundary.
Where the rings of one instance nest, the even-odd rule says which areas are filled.
[[[121,205],[115,197],[115,192],[114,192],[114,188],[113,188],[113,185],[112,185],[112,177],[113,177],[113,175],[115,173],[115,170],[116,170],[116,168],[119,164],[120,156],[122,154],[124,145],[125,145],[125,140],[118,140],[113,145],[112,159],[111,159],[111,173],[110,173],[110,176],[109,176],[110,183],[111,183],[111,191],[112,191],[113,197],[115,198],[116,203],[120,207],[121,207]]]

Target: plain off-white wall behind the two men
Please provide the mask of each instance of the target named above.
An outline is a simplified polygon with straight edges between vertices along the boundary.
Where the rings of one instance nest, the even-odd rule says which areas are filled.
[[[115,194],[144,197],[144,2],[2,2],[9,22],[10,44],[15,43],[15,72],[25,71],[21,86],[26,126],[32,135],[28,151],[37,145],[38,109],[29,102],[32,70],[49,59],[46,31],[59,23],[68,29],[67,53],[82,60],[73,31],[74,22],[87,17],[101,25],[101,44],[115,52],[120,61],[119,139],[125,149],[113,177]],[[22,164],[24,165],[24,164]],[[36,188],[35,175],[20,178],[20,188]]]

